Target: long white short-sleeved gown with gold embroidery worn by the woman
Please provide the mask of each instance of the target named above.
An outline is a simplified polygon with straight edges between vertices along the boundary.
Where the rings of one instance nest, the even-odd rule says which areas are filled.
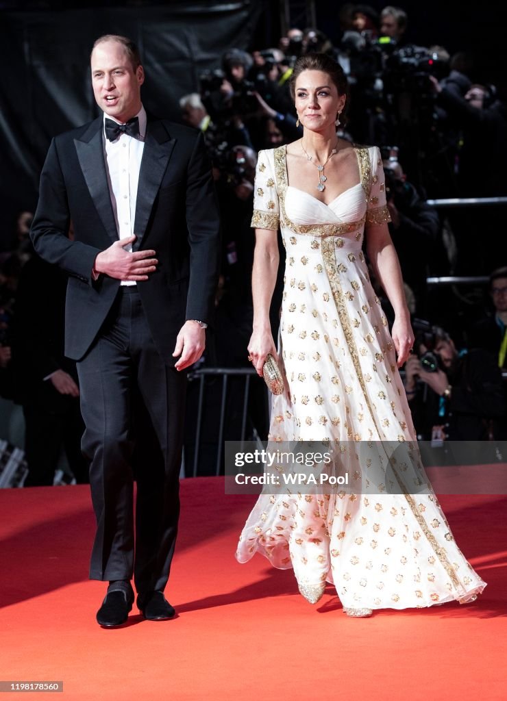
[[[252,226],[280,226],[287,254],[278,349],[286,386],[272,400],[270,441],[341,444],[358,489],[271,488],[248,517],[236,557],[246,562],[258,551],[275,567],[293,567],[311,601],[334,582],[344,608],[471,600],[485,583],[426,483],[361,250],[365,224],[389,221],[379,149],[356,147],[356,155],[360,182],[325,205],[288,184],[285,147],[261,151]],[[396,445],[406,460],[391,461],[398,483],[384,491],[368,470]]]

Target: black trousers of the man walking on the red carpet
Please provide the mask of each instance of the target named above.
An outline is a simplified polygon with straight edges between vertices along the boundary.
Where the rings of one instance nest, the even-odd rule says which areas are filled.
[[[180,513],[187,377],[156,350],[135,287],[120,287],[78,374],[97,519],[90,579],[134,576],[137,592],[163,590]]]

